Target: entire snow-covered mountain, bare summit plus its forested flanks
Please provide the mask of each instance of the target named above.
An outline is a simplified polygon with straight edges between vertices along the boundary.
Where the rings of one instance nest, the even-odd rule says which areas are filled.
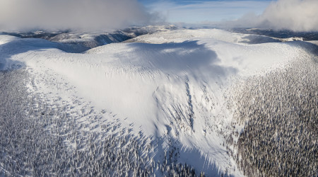
[[[129,36],[0,35],[0,176],[317,176],[314,42]]]

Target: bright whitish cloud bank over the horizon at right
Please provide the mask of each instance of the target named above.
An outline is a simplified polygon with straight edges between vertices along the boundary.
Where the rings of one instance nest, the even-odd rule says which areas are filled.
[[[271,2],[261,15],[249,13],[237,21],[228,22],[228,25],[275,30],[318,31],[317,9],[317,0],[278,0]]]

